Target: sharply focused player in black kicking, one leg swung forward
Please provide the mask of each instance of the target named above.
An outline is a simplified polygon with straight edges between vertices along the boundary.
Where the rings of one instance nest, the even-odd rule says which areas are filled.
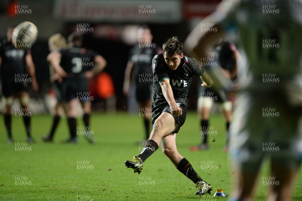
[[[149,140],[142,152],[125,161],[134,173],[140,173],[144,161],[159,146],[176,168],[191,179],[197,188],[195,194],[210,193],[212,186],[203,181],[189,161],[180,155],[176,147],[176,133],[184,124],[187,114],[187,95],[192,76],[200,76],[204,87],[211,86],[212,80],[196,59],[184,56],[182,43],[177,37],[169,38],[163,44],[163,53],[152,61],[154,94],[152,100],[152,125]]]

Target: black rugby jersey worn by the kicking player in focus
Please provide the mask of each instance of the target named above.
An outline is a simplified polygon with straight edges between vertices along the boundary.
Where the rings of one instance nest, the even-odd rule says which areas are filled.
[[[164,78],[170,80],[174,99],[177,103],[183,103],[187,106],[187,95],[192,82],[192,76],[201,76],[204,69],[195,58],[184,56],[176,70],[170,70],[163,53],[157,54],[152,61],[153,69],[153,104],[155,107],[159,104],[167,104],[163,95],[160,81]]]

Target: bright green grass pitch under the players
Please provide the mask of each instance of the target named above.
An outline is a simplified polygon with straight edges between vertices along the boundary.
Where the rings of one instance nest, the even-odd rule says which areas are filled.
[[[82,119],[78,119],[83,126]],[[0,200],[226,200],[211,195],[195,196],[196,188],[182,175],[159,149],[144,163],[141,174],[124,166],[142,149],[142,120],[138,115],[94,113],[91,130],[97,143],[90,145],[80,136],[77,145],[62,144],[68,129],[63,118],[54,143],[42,143],[41,136],[49,130],[51,116],[32,117],[35,144],[25,142],[21,117],[13,117],[13,135],[17,144],[9,145],[0,117]],[[197,114],[188,113],[177,136],[179,152],[186,157],[200,176],[214,189],[222,188],[227,195],[232,189],[232,170],[225,142],[224,120],[220,114],[210,119],[213,126],[209,137],[210,149],[191,152],[189,147],[200,142]],[[215,139],[215,142],[212,142]],[[19,151],[18,151],[19,150]],[[267,167],[259,177],[254,200],[265,200],[268,186],[264,185]],[[294,188],[293,199],[302,199],[301,172]],[[264,178],[263,178],[264,176]]]

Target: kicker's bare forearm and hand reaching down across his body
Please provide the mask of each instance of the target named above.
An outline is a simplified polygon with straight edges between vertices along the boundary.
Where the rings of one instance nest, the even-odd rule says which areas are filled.
[[[173,115],[182,115],[182,109],[177,105],[174,96],[172,87],[170,85],[170,81],[168,79],[163,79],[160,83],[163,95],[167,100],[168,104],[170,105],[170,109]]]

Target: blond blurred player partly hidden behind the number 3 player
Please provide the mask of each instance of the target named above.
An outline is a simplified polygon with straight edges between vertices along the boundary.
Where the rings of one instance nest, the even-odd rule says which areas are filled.
[[[50,52],[60,51],[60,50],[67,48],[67,41],[60,33],[53,34],[48,39],[48,47],[49,47]],[[49,55],[51,55],[51,54],[49,54]],[[47,60],[50,59],[49,57],[50,56],[47,57]],[[56,104],[54,107],[54,116],[52,119],[52,125],[51,125],[50,132],[48,135],[42,137],[42,141],[44,141],[44,142],[53,141],[54,132],[61,119],[61,109],[63,109],[65,114],[67,114],[67,109],[62,101],[62,81],[63,80],[57,73],[54,73],[52,66],[50,66],[50,76],[51,76],[50,82],[52,83],[52,88],[54,90],[55,97],[56,97]]]

